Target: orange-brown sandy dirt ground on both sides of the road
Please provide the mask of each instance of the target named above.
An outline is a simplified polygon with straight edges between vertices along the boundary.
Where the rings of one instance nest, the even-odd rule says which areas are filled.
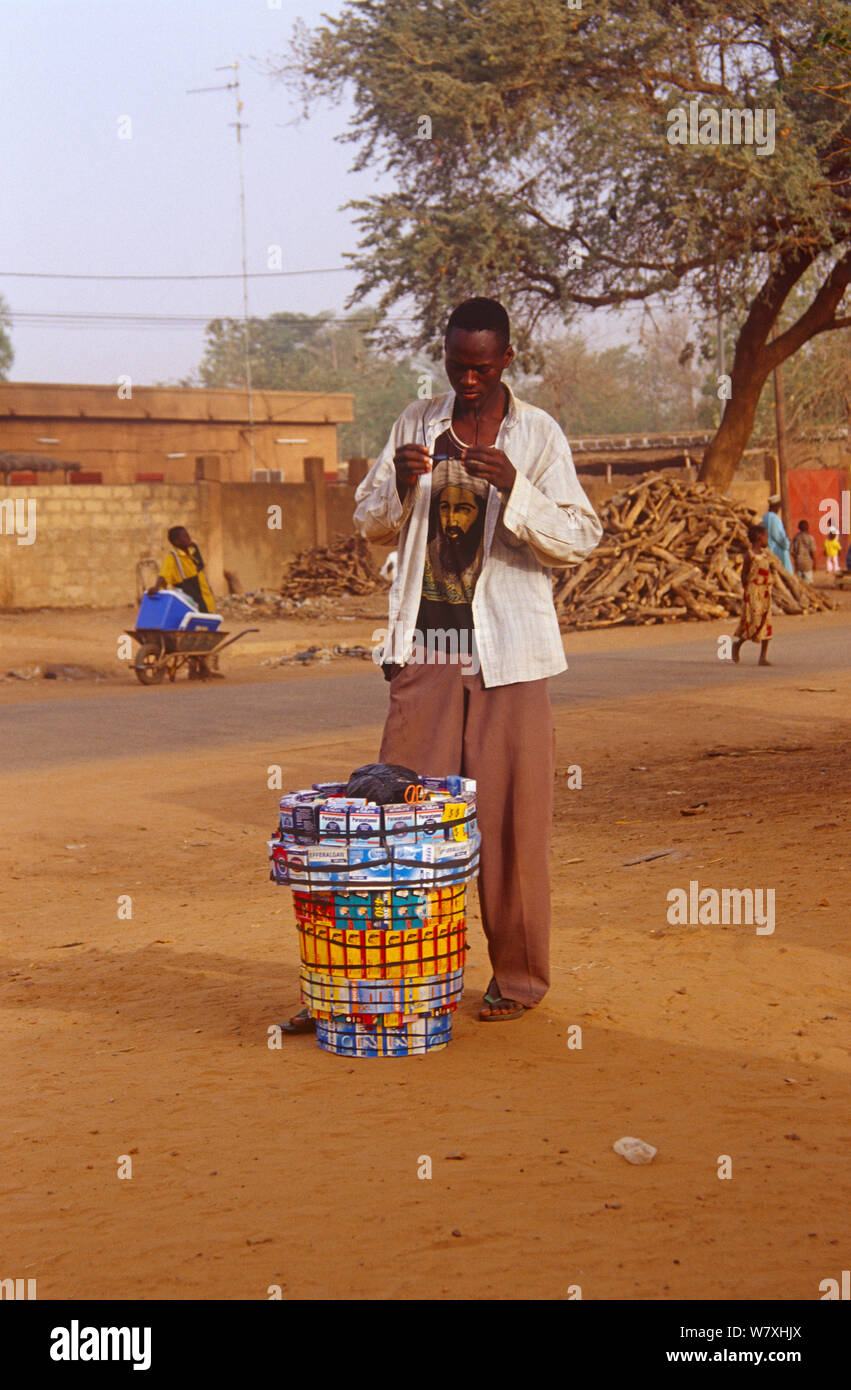
[[[812,621],[851,635],[845,616]],[[124,626],[4,616],[0,664],[106,666]],[[670,631],[581,644],[652,660]],[[289,680],[259,670],[260,646],[328,635],[264,628],[231,678]],[[327,674],[296,678],[309,694]],[[127,678],[99,688],[120,698]],[[377,726],[0,764],[0,1273],[63,1300],[816,1300],[848,1266],[851,673],[808,685],[559,708],[552,990],[520,1022],[477,1022],[473,905],[455,1040],[426,1058],[268,1047],[298,1004],[298,945],[267,878],[267,766],[289,787],[339,776],[374,758]],[[773,934],[669,924],[692,880],[773,888]],[[626,1163],[622,1136],[656,1159]]]

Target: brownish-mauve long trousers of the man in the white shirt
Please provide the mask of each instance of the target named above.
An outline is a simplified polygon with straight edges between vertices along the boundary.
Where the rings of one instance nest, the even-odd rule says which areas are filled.
[[[549,841],[555,739],[545,680],[485,689],[453,664],[403,666],[389,688],[381,760],[477,783],[478,901],[506,999],[549,988]]]

